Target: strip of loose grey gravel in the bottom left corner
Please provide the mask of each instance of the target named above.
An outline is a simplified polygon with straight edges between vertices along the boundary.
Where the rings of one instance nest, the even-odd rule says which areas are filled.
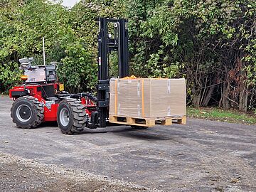
[[[65,169],[62,165],[0,153],[1,191],[156,191],[106,176]]]

